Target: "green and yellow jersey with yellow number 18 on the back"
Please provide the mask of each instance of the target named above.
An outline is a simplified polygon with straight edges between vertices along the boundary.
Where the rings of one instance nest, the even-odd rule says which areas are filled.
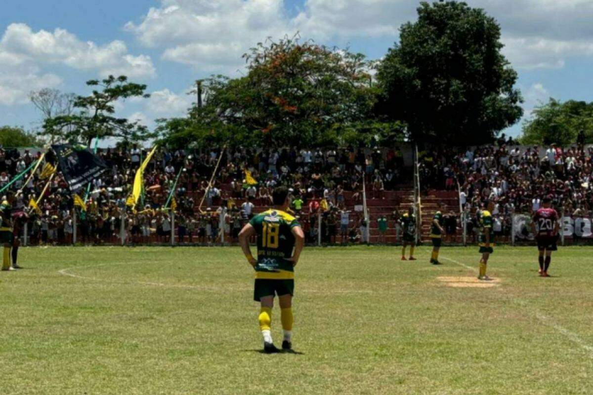
[[[294,266],[287,259],[295,246],[292,228],[301,226],[297,219],[284,211],[270,209],[257,214],[249,223],[257,234],[256,278],[294,278]]]

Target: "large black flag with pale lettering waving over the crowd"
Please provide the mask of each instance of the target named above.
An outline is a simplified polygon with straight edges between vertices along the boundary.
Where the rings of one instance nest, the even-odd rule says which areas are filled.
[[[88,148],[60,144],[53,145],[52,149],[58,156],[60,171],[72,192],[78,191],[107,170],[103,159]]]

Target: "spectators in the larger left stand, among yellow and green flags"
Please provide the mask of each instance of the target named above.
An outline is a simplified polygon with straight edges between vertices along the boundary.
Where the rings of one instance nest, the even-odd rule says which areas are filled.
[[[20,227],[27,223],[28,243],[33,245],[71,243],[75,228],[82,243],[119,243],[122,234],[126,243],[165,243],[173,226],[165,202],[176,185],[174,227],[178,242],[215,243],[222,237],[232,242],[256,206],[271,203],[272,188],[287,185],[292,190],[292,209],[302,216],[310,242],[318,237],[320,226],[317,216],[309,214],[317,213],[320,203],[321,208],[327,208],[321,224],[324,241],[336,242],[340,236],[340,241],[346,242],[360,239],[354,229],[359,229],[364,220],[350,216],[353,207],[346,207],[345,196],[360,203],[365,179],[368,196],[382,198],[385,190],[401,181],[403,170],[397,149],[229,149],[220,162],[219,150],[159,149],[144,172],[141,203],[131,210],[126,198],[146,153],[138,147],[99,149],[97,154],[109,171],[94,179],[88,192],[78,192],[86,202],[85,210],[75,208],[72,193],[59,172],[42,198],[47,179],[40,178],[41,168],[24,185],[26,174],[9,188],[20,191],[14,204],[19,213],[15,223]],[[40,150],[0,149],[0,188],[40,155]],[[246,170],[255,184],[248,182]],[[39,211],[28,207],[31,198],[39,200]]]

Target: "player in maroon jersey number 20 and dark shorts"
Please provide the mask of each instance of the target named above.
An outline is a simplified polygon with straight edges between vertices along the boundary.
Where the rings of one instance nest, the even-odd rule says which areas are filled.
[[[548,268],[550,267],[552,251],[557,251],[556,242],[558,240],[558,230],[560,221],[556,210],[551,208],[552,200],[546,196],[542,200],[540,209],[535,211],[531,230],[537,240],[537,249],[539,251],[540,269],[538,273],[541,277],[549,277]],[[545,258],[544,258],[545,255]]]

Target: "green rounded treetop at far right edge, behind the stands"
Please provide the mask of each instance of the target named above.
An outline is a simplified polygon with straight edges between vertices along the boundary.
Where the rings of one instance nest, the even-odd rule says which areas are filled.
[[[522,144],[574,144],[582,135],[583,143],[593,142],[593,102],[550,98],[535,107],[522,127]]]

